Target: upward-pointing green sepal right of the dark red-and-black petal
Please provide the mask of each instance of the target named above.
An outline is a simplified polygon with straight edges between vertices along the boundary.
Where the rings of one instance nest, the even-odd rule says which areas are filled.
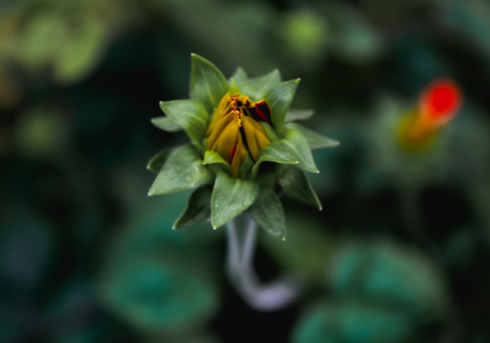
[[[264,95],[264,98],[269,101],[272,109],[272,123],[279,134],[284,131],[286,113],[293,101],[298,83],[299,78],[279,83]]]

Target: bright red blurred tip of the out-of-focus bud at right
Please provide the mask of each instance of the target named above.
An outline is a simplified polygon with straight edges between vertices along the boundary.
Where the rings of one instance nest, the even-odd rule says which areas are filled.
[[[422,93],[422,109],[435,122],[451,120],[459,110],[462,101],[458,85],[447,79],[440,79],[429,84]]]

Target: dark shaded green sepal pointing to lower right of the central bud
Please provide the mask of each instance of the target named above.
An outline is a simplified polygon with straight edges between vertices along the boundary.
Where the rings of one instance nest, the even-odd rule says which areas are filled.
[[[320,200],[303,171],[294,167],[287,168],[279,179],[279,185],[290,198],[317,207],[321,211]]]

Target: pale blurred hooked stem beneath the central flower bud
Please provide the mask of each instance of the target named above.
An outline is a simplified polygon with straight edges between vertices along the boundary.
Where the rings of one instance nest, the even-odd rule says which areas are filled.
[[[262,284],[253,269],[257,227],[242,214],[228,224],[226,270],[231,283],[245,301],[256,310],[275,311],[294,301],[302,289],[299,280],[283,278]]]

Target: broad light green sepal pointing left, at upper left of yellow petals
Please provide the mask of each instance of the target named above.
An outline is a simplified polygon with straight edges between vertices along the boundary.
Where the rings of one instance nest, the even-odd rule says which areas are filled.
[[[184,129],[196,146],[201,147],[208,121],[208,113],[202,104],[189,99],[160,101],[160,108]]]

